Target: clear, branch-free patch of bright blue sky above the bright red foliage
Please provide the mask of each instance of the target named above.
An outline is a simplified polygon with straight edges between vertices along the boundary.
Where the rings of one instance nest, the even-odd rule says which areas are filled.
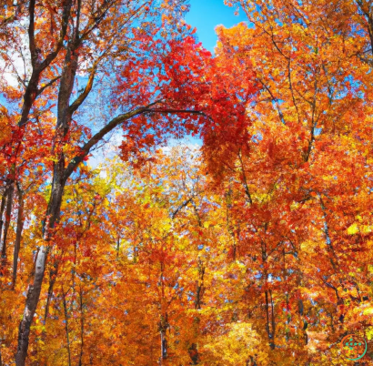
[[[225,25],[227,28],[247,20],[242,10],[234,15],[235,7],[224,5],[223,0],[190,0],[190,11],[186,23],[197,27],[197,37],[203,46],[214,52],[217,44],[215,27]]]

